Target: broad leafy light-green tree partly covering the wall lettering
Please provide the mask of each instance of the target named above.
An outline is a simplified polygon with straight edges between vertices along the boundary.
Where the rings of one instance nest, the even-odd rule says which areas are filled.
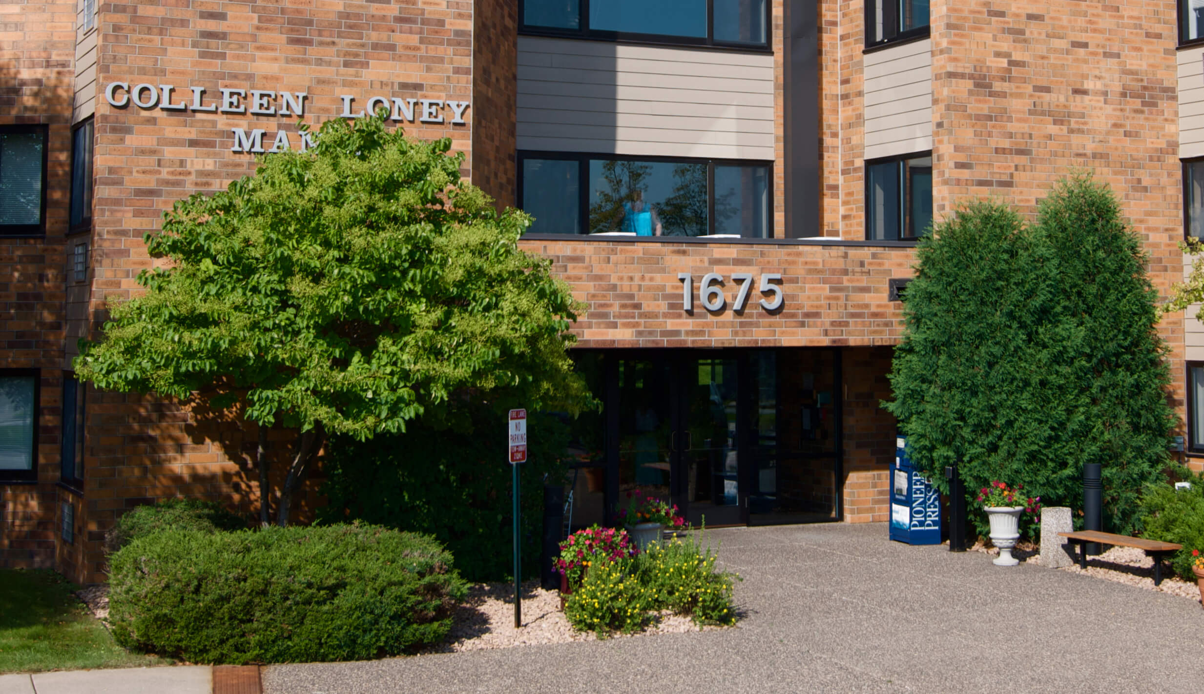
[[[456,401],[576,413],[590,397],[567,330],[584,304],[519,250],[530,216],[498,214],[449,148],[383,115],[335,119],[315,148],[178,201],[144,237],[170,263],[110,307],[99,342],[81,340],[79,378],[256,422],[265,524],[265,431],[295,429],[281,526],[327,434],[364,440],[418,416],[454,427]]]

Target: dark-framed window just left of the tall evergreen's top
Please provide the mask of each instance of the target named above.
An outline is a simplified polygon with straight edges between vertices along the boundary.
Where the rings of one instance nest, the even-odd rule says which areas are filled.
[[[866,239],[914,241],[932,225],[932,154],[866,162]]]

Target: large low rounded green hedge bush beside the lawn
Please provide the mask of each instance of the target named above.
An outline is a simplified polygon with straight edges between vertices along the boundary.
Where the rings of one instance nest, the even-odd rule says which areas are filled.
[[[111,563],[117,642],[193,663],[399,654],[442,640],[467,588],[431,538],[359,524],[164,530]]]

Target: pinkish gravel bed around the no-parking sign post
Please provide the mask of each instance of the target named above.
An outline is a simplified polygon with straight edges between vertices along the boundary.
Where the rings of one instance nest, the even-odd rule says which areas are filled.
[[[576,631],[560,611],[560,592],[544,591],[538,581],[523,583],[523,628],[514,628],[514,587],[509,583],[477,583],[456,607],[447,641],[427,648],[425,653],[453,653],[483,648],[509,648],[536,643],[594,641],[592,631]],[[663,612],[654,617],[644,631],[615,634],[615,639],[648,634],[680,634],[722,629],[698,627],[689,617]]]

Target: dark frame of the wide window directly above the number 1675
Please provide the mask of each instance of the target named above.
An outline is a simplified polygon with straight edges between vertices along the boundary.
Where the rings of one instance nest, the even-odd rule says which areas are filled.
[[[523,180],[523,164],[527,159],[554,159],[557,161],[577,161],[577,180],[578,183],[578,212],[577,220],[580,223],[580,233],[538,233],[539,237],[555,236],[563,238],[586,238],[591,235],[589,232],[590,225],[590,194],[589,194],[589,180],[590,180],[590,160],[604,160],[604,161],[649,161],[649,162],[661,162],[661,164],[706,164],[707,165],[707,231],[714,232],[715,230],[715,198],[710,195],[710,191],[715,189],[715,166],[763,166],[767,171],[767,192],[769,194],[769,206],[766,210],[766,236],[740,236],[728,237],[722,239],[710,239],[698,236],[642,236],[639,241],[662,241],[662,242],[680,242],[687,238],[695,238],[701,241],[773,241],[774,227],[773,227],[773,162],[768,160],[759,159],[707,159],[701,156],[632,156],[630,154],[614,154],[614,153],[586,153],[586,152],[544,152],[539,149],[519,149],[514,155],[515,168],[515,203],[514,206],[523,209],[523,192],[524,192],[524,180]],[[607,238],[607,237],[603,237]],[[609,237],[614,238],[614,237]]]

